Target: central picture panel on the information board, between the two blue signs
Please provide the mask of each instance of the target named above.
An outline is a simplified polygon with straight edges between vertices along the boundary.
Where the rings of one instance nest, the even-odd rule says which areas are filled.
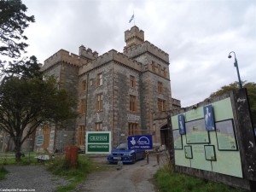
[[[186,139],[188,144],[210,143],[208,131],[206,131],[205,119],[197,119],[186,122]]]

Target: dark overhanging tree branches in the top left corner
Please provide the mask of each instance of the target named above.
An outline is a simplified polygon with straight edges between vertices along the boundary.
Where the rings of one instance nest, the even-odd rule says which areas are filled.
[[[23,34],[34,16],[27,16],[26,5],[20,0],[0,1],[0,54],[11,58],[19,58],[28,46]]]

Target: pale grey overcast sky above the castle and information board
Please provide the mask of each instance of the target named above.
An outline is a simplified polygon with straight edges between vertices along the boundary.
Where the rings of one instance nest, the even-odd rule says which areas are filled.
[[[23,0],[36,22],[26,29],[29,55],[38,61],[79,46],[99,55],[123,51],[134,24],[145,40],[169,54],[172,97],[182,107],[203,101],[225,84],[256,82],[255,0]],[[129,23],[131,15],[135,20]],[[134,22],[135,21],[135,22]]]

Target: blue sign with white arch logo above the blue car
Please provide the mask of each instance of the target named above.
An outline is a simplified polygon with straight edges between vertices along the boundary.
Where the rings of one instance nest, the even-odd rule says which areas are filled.
[[[140,135],[140,136],[129,136],[128,148],[129,149],[152,149],[152,136],[151,135]]]

